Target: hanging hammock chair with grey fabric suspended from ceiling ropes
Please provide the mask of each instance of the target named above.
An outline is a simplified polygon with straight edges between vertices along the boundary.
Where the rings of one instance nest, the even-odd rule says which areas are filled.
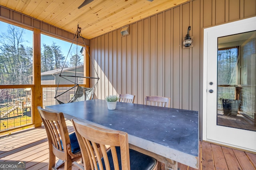
[[[85,41],[84,41],[84,37],[82,37],[82,34],[81,34],[81,27],[79,27],[79,25],[77,25],[77,31],[76,31],[76,34],[75,34],[75,36],[74,36],[74,39],[73,39],[73,42],[72,42],[72,44],[71,44],[71,46],[70,46],[70,49],[69,49],[69,51],[68,51],[68,54],[70,53],[70,50],[71,50],[71,47],[72,47],[72,45],[73,45],[73,43],[74,43],[74,41],[75,41],[75,39],[76,39],[76,47],[78,47],[78,40],[79,39],[82,39],[83,40],[83,43],[84,43],[84,47],[85,47],[85,49],[86,49],[86,53],[88,54],[88,56],[89,56],[89,60],[91,61],[91,65],[93,66],[93,68],[94,68],[94,71],[95,71],[95,73],[96,73],[96,76],[97,77],[84,77],[84,76],[77,76],[77,62],[76,62],[76,66],[75,66],[75,72],[74,72],[74,75],[64,75],[62,72],[64,71],[64,66],[65,66],[65,63],[66,63],[66,61],[67,61],[67,58],[68,58],[68,55],[67,55],[67,57],[66,57],[66,60],[65,60],[65,62],[64,62],[64,64],[63,64],[63,67],[62,67],[62,69],[61,69],[61,72],[60,72],[60,78],[59,78],[59,81],[58,81],[58,86],[57,86],[57,89],[56,89],[56,93],[55,93],[55,97],[54,97],[54,99],[56,99],[56,101],[59,103],[59,104],[64,104],[65,102],[64,101],[61,101],[61,98],[63,99],[64,97],[63,96],[65,96],[65,94],[67,94],[68,92],[71,92],[71,93],[73,93],[74,92],[74,96],[69,100],[69,102],[68,103],[71,103],[71,102],[80,102],[80,101],[84,101],[84,100],[92,100],[93,98],[94,98],[94,94],[95,94],[95,89],[96,89],[96,87],[97,87],[97,85],[98,85],[98,81],[99,81],[99,76],[98,76],[98,73],[96,72],[96,69],[95,69],[95,67],[94,67],[94,63],[92,62],[92,60],[91,60],[91,57],[90,57],[90,54],[89,54],[89,51],[88,51],[88,49],[87,49],[87,47],[86,47],[86,43],[85,43]],[[78,55],[77,55],[77,49],[76,49],[76,61],[77,61],[77,57],[78,57]],[[81,52],[81,51],[80,51]],[[86,54],[84,54],[84,55],[86,55]],[[91,87],[91,88],[86,88],[86,87],[82,87],[82,86],[79,86],[79,84],[78,84],[78,78],[88,78],[88,79],[92,79],[92,80],[96,80],[96,82],[95,82],[95,84],[94,84],[94,86],[93,87]],[[68,90],[64,90],[64,92],[63,92],[63,90],[59,90],[59,85],[60,85],[60,80],[66,80],[66,81],[68,81],[68,82],[71,82],[72,84],[74,84],[74,86],[72,86],[72,87],[70,87]],[[73,80],[74,79],[74,80]]]

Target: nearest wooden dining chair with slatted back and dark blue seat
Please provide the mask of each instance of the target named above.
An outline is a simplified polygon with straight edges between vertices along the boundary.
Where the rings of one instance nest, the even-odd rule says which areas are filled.
[[[103,129],[71,120],[78,138],[86,170],[155,170],[157,160],[129,149],[128,134],[123,131]],[[100,145],[102,157],[98,150]],[[105,150],[105,145],[110,149]]]

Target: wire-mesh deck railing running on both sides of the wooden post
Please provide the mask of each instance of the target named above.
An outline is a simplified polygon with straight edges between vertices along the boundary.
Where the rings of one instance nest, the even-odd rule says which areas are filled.
[[[31,85],[30,85],[31,86]],[[59,91],[66,91],[72,85],[61,85]],[[54,99],[57,85],[42,85],[43,106],[58,104]],[[74,90],[62,96],[66,103],[74,96]],[[24,129],[33,125],[31,88],[0,88],[0,135],[14,129]]]

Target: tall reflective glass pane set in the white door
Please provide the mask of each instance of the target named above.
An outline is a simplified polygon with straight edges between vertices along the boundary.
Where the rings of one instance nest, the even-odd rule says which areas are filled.
[[[256,31],[219,37],[218,47],[218,113],[242,122],[218,125],[256,131]]]

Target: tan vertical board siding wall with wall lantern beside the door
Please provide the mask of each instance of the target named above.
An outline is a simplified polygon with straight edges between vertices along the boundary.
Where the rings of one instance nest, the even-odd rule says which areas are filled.
[[[144,96],[166,96],[171,107],[202,111],[203,28],[255,15],[256,0],[193,0],[131,23],[129,35],[117,29],[91,39],[96,97],[128,93],[143,104]],[[194,47],[183,49],[189,25]]]

